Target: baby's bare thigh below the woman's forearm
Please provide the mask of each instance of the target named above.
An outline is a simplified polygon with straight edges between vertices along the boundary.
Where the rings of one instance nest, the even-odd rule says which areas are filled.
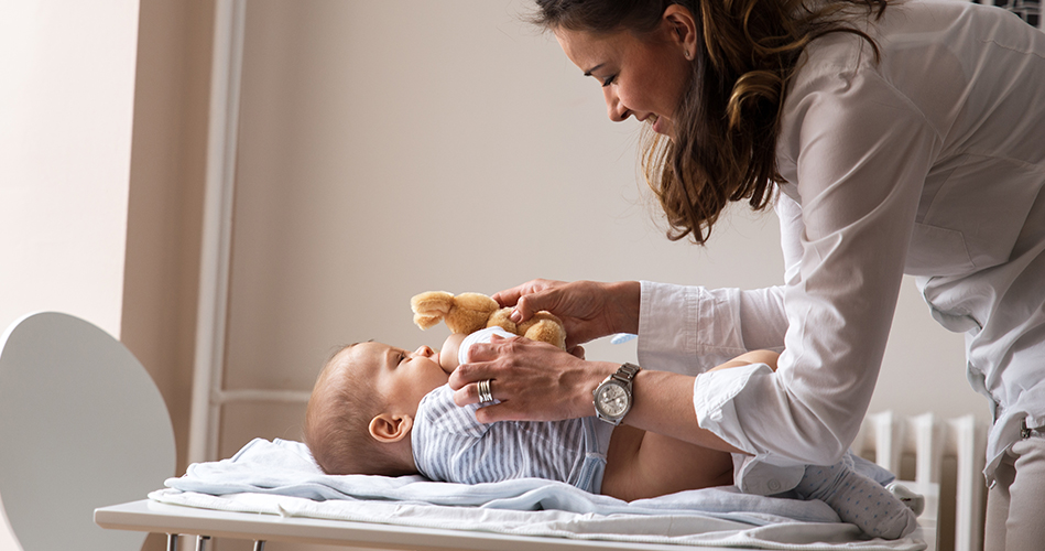
[[[602,494],[632,501],[732,483],[728,453],[620,425],[606,454]]]

